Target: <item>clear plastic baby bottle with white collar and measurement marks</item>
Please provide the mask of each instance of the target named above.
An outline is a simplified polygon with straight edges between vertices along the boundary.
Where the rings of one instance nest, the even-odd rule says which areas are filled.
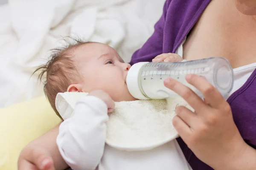
[[[186,81],[186,74],[204,77],[224,98],[227,98],[233,88],[233,68],[223,57],[186,62],[139,62],[128,71],[126,83],[131,95],[136,99],[164,99],[177,96],[163,84],[167,77],[172,77],[203,97],[198,89]]]

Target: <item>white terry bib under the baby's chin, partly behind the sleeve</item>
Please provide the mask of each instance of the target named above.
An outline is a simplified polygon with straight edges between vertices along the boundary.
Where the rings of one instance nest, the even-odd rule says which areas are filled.
[[[65,92],[56,96],[56,109],[65,120],[76,102],[87,93]],[[180,97],[115,102],[109,114],[106,143],[119,150],[150,150],[178,137],[172,125],[177,105],[192,108]]]

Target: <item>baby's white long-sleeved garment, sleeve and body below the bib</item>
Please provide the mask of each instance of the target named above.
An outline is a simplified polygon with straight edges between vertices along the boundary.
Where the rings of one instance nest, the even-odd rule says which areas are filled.
[[[97,97],[82,97],[73,112],[57,138],[60,153],[73,170],[191,170],[176,140],[137,151],[105,144],[107,105]]]

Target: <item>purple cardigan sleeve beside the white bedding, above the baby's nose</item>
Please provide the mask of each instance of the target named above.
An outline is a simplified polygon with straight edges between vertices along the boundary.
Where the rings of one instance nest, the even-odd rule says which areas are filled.
[[[130,64],[137,62],[151,62],[154,57],[163,53],[163,27],[166,21],[166,13],[171,0],[166,0],[163,7],[163,14],[154,26],[154,33],[139,50],[131,57]]]

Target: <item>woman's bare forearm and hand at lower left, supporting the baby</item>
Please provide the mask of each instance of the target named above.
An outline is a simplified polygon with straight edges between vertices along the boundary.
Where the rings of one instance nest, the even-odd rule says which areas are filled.
[[[54,170],[54,167],[64,170],[68,167],[56,144],[59,125],[24,147],[18,160],[19,170]]]

